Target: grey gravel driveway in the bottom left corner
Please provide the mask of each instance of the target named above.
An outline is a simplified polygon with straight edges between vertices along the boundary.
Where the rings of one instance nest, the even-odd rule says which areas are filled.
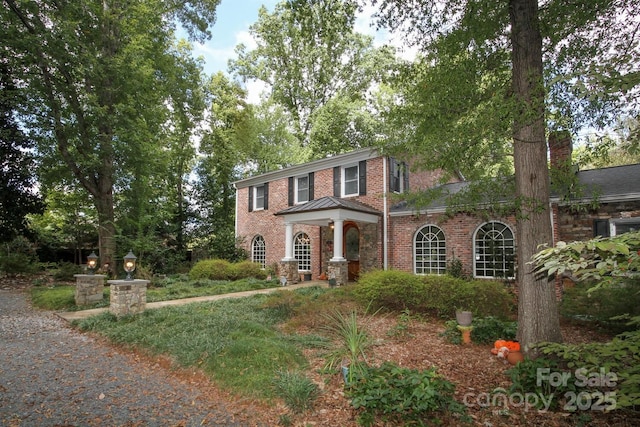
[[[32,309],[24,291],[0,290],[0,425],[258,425],[151,365]]]

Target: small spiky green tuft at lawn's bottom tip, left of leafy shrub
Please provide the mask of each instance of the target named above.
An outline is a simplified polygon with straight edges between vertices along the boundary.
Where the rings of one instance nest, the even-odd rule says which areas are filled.
[[[296,414],[313,408],[320,394],[318,385],[304,373],[279,370],[273,380],[274,394],[284,400],[285,405]]]

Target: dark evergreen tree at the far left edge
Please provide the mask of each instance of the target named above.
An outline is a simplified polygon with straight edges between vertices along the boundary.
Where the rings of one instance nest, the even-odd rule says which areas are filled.
[[[0,242],[22,234],[26,216],[43,208],[31,173],[36,165],[30,153],[34,143],[14,118],[17,93],[7,64],[0,62]]]

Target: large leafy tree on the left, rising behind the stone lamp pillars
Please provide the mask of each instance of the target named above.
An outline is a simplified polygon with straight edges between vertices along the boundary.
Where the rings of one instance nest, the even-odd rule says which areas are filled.
[[[219,0],[3,3],[2,57],[29,92],[21,120],[91,195],[101,261],[114,271],[114,192],[161,135],[174,26],[206,37]]]

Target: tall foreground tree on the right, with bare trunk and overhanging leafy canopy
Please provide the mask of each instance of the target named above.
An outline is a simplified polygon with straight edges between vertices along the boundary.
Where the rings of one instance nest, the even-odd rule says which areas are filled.
[[[414,131],[399,149],[425,167],[470,178],[515,171],[518,335],[525,349],[560,340],[553,284],[529,264],[540,244],[552,242],[547,124],[605,124],[634,105],[625,101],[637,94],[639,7],[625,0],[549,0],[542,8],[537,0],[374,3],[381,23],[407,30],[422,48],[399,109]]]

